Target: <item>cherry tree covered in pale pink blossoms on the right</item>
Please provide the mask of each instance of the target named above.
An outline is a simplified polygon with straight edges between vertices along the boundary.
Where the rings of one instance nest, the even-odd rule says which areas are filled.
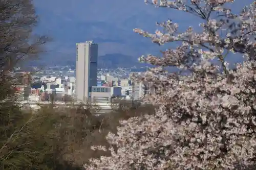
[[[199,23],[202,32],[189,27],[179,33],[172,20],[158,23],[163,31],[155,34],[134,30],[160,45],[182,43],[164,51],[162,57],[141,57],[156,67],[134,79],[153,84],[154,94],[145,102],[160,107],[155,115],[122,120],[117,134],[107,136],[111,156],[91,159],[86,169],[255,169],[256,4],[233,14],[225,8],[232,2],[152,1],[156,7],[204,19]],[[247,60],[231,69],[226,62],[230,53]],[[165,67],[169,66],[179,70],[168,72]]]

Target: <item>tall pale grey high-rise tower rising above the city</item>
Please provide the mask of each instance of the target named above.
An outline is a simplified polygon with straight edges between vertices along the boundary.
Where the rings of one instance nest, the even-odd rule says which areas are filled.
[[[97,86],[98,44],[86,41],[76,44],[76,98],[87,102],[92,86]]]

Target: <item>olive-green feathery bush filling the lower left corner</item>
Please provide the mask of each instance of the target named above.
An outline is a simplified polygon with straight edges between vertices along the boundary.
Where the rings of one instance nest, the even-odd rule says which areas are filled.
[[[20,115],[18,120],[15,114]],[[58,133],[63,122],[60,114],[43,108],[36,114],[19,110],[10,115],[9,124],[1,126],[0,169],[73,168],[59,153],[59,146],[63,147]]]

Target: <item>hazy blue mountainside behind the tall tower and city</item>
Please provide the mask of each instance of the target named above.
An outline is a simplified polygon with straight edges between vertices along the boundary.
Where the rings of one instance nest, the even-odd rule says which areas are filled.
[[[253,0],[236,0],[235,11]],[[139,57],[159,53],[167,46],[153,44],[137,35],[134,28],[150,32],[156,22],[168,18],[178,22],[182,30],[198,27],[198,19],[184,12],[154,8],[143,0],[34,0],[39,15],[36,32],[47,34],[53,42],[47,45],[45,57],[51,60],[75,60],[75,43],[94,40],[99,43],[99,55],[120,53]]]

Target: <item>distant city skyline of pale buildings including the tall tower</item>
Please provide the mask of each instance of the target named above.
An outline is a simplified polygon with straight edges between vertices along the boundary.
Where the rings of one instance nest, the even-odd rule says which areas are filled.
[[[47,105],[53,102],[62,107],[74,102],[93,104],[100,108],[97,113],[108,113],[123,101],[140,103],[150,92],[144,83],[129,79],[134,73],[131,69],[98,69],[98,43],[90,40],[75,45],[76,68],[49,67],[48,70],[34,72],[30,83],[17,88],[23,106],[36,109],[38,103]],[[19,68],[16,68],[16,74],[18,72]]]

